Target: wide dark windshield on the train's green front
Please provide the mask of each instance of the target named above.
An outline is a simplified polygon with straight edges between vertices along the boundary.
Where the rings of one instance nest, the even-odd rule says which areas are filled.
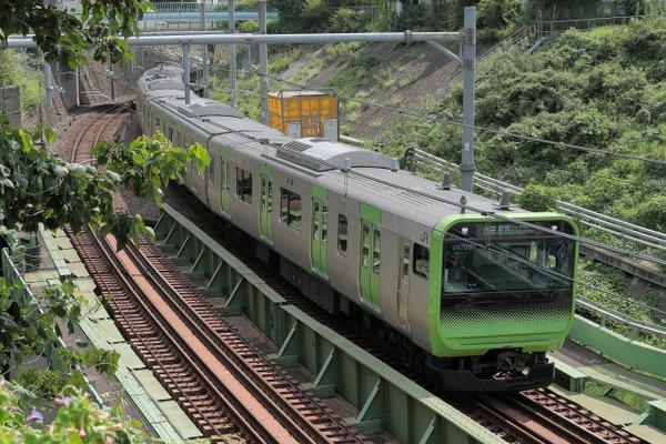
[[[442,286],[446,294],[551,297],[572,289],[575,243],[563,221],[466,222],[445,236]]]

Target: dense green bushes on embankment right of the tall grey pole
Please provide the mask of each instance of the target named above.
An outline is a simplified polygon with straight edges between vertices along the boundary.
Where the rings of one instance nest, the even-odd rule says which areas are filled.
[[[666,84],[654,68],[665,23],[571,30],[532,54],[502,53],[477,81],[476,124],[496,130],[477,132],[478,171],[659,230],[666,167],[613,153],[666,157]],[[453,110],[458,101],[454,92]]]

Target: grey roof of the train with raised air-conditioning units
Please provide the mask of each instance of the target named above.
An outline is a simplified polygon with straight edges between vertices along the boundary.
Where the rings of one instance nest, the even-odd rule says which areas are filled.
[[[244,118],[243,113],[220,102],[192,94],[184,104],[182,88],[168,88],[180,77],[178,69],[155,68],[140,82],[145,93],[175,115],[191,118],[190,124],[209,134],[209,143],[233,148],[233,152],[279,163],[299,175],[342,195],[363,201],[425,226],[435,226],[443,218],[462,213],[503,215],[525,212],[456,188],[401,171],[393,158],[321,138],[294,140],[281,131]],[[182,80],[179,80],[182,87]],[[151,87],[153,85],[153,87]],[[164,87],[164,88],[162,88]],[[175,103],[174,103],[175,102]]]

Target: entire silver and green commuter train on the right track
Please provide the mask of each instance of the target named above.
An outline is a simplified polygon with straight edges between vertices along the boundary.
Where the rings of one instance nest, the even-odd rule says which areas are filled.
[[[331,312],[362,313],[447,391],[549,384],[573,323],[577,228],[401,171],[394,159],[291,139],[212,100],[178,69],[139,81],[144,131],[211,154],[186,186]],[[461,203],[464,202],[464,203]]]

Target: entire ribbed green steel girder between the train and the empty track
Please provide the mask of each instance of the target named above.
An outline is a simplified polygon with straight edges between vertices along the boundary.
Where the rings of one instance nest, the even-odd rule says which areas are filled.
[[[208,296],[225,296],[223,315],[245,314],[279,349],[282,365],[314,375],[305,384],[320,397],[340,396],[356,412],[361,431],[383,430],[401,443],[502,443],[435,395],[316,323],[271,290],[231,253],[164,204],[155,240],[200,282]]]

